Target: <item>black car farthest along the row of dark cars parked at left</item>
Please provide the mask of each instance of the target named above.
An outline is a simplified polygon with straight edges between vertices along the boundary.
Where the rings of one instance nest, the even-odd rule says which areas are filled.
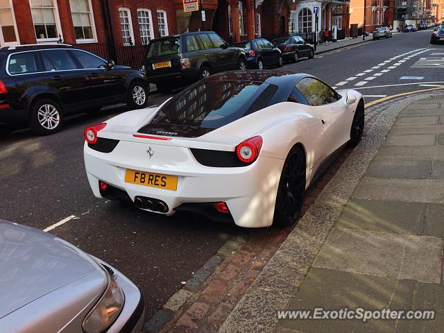
[[[282,52],[282,58],[285,62],[297,62],[300,58],[314,58],[314,46],[305,42],[300,36],[286,38],[277,38],[273,44]]]

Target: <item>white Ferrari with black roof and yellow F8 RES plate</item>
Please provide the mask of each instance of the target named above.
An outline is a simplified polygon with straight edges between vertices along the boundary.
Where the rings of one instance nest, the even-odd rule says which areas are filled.
[[[200,80],[157,108],[85,129],[94,195],[241,227],[291,225],[305,189],[364,130],[364,98],[290,71]]]

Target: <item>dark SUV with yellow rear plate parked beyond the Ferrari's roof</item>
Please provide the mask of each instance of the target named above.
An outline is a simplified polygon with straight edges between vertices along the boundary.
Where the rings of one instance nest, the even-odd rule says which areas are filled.
[[[171,92],[219,71],[246,69],[246,58],[217,33],[200,31],[151,40],[143,68],[160,92]]]

